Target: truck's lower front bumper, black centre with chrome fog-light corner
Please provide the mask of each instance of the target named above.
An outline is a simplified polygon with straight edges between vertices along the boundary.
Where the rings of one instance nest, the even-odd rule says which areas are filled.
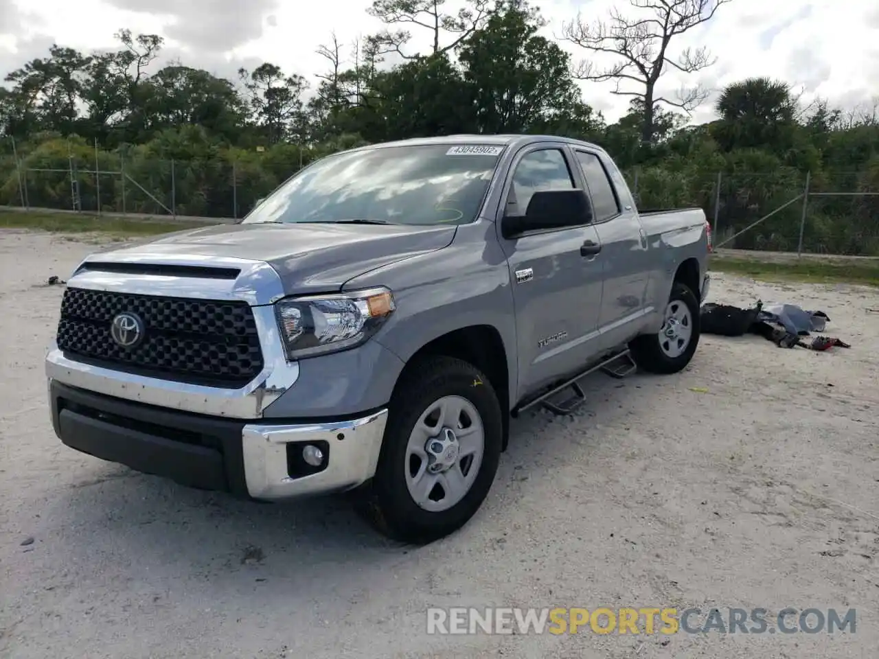
[[[277,501],[340,492],[375,474],[388,410],[357,418],[265,424],[203,416],[50,381],[55,434],[65,445],[198,489]],[[323,463],[301,459],[316,445]]]

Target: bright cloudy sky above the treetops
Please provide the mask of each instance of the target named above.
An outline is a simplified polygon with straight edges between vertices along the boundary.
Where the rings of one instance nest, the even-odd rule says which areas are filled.
[[[454,7],[461,0],[448,0]],[[179,58],[194,66],[236,79],[237,69],[261,62],[314,81],[327,70],[316,54],[335,33],[350,45],[377,32],[381,24],[367,15],[370,0],[0,0],[0,76],[53,43],[84,52],[116,46],[113,34],[157,33],[166,40],[162,61]],[[544,0],[537,3],[558,35],[578,14],[585,22],[607,17],[622,0]],[[246,8],[246,9],[245,9]],[[634,12],[634,10],[632,10]],[[633,15],[637,15],[633,13]],[[418,33],[416,35],[418,37]],[[426,46],[425,35],[413,41]],[[701,83],[716,92],[725,84],[751,76],[790,83],[803,101],[816,96],[852,108],[879,99],[879,4],[871,0],[731,0],[706,25],[672,41],[672,53],[706,46],[716,64],[699,74],[669,71],[659,91],[673,93],[684,84]],[[606,60],[562,43],[576,60]],[[314,84],[314,83],[313,83]],[[609,121],[625,112],[628,98],[614,96],[612,83],[583,83],[585,101]],[[712,98],[694,112],[701,123],[714,118]]]

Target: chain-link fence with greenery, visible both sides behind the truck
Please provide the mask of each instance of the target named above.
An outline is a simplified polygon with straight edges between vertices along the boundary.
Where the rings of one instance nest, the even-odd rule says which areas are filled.
[[[69,144],[23,157],[0,140],[0,206],[238,219],[308,159],[179,161]],[[639,209],[701,207],[718,247],[879,256],[879,172],[625,172]]]

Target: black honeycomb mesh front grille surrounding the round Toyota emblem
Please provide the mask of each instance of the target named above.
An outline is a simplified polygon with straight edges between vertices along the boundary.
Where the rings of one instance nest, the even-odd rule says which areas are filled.
[[[113,318],[134,313],[143,339],[124,348],[111,336]],[[68,288],[58,347],[96,366],[208,386],[243,387],[263,368],[253,312],[244,301],[184,300]]]

